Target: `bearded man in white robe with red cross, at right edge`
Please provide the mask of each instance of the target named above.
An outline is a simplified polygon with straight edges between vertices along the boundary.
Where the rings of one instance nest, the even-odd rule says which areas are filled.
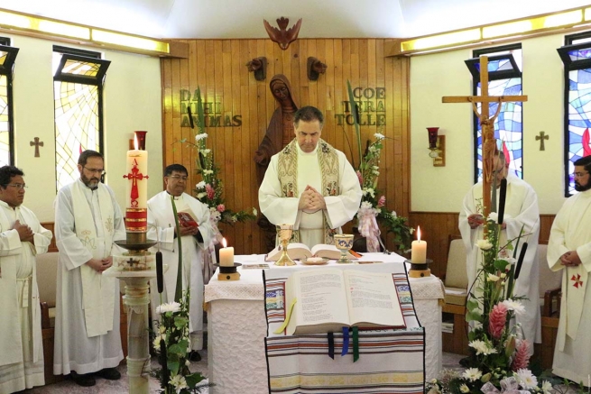
[[[588,386],[591,373],[591,156],[575,161],[575,189],[554,218],[550,270],[564,270],[552,373]]]

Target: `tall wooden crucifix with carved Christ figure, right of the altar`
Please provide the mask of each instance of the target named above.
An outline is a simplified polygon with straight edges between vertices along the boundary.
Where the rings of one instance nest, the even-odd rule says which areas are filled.
[[[501,112],[501,105],[506,102],[527,101],[527,96],[488,96],[488,57],[480,57],[480,96],[444,96],[443,103],[472,103],[472,108],[478,116],[482,126],[482,151],[483,151],[483,185],[482,197],[484,215],[491,212],[491,181],[493,180],[494,149],[494,120]],[[481,103],[481,113],[478,114],[476,103]],[[499,103],[496,113],[489,117],[488,105]],[[486,227],[485,227],[486,229]],[[485,230],[486,231],[486,230]]]

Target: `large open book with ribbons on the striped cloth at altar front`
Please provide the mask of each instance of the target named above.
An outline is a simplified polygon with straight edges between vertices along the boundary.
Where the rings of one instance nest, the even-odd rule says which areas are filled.
[[[300,270],[285,282],[287,335],[323,334],[343,326],[406,327],[392,273],[320,268]]]

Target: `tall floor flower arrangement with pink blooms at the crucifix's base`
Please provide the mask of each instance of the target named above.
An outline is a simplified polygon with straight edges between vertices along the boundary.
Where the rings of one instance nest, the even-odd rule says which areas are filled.
[[[513,295],[513,289],[527,243],[522,244],[518,261],[515,261],[512,251],[517,250],[522,235],[505,245],[499,244],[503,224],[502,206],[503,183],[499,213],[492,212],[486,217],[484,239],[477,242],[483,258],[466,303],[466,321],[471,325],[468,334],[469,355],[462,361],[466,370],[462,373],[442,371],[439,380],[429,383],[430,394],[548,394],[549,389],[552,389],[549,380],[538,381],[528,369],[531,344],[522,339],[521,327],[513,321],[514,316],[525,310],[520,302],[523,297]],[[477,204],[477,209],[482,214],[482,202]]]

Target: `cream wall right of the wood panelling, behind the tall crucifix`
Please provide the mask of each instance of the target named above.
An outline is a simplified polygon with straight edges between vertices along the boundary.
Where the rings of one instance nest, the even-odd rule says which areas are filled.
[[[522,41],[523,170],[538,193],[540,213],[556,214],[564,196],[563,85],[557,48],[564,36],[554,34]],[[472,107],[442,104],[442,96],[472,94],[472,78],[464,60],[472,50],[411,58],[411,210],[458,212],[473,184]],[[446,135],[446,166],[433,167],[426,127],[439,126]],[[545,151],[535,136],[549,135]]]

